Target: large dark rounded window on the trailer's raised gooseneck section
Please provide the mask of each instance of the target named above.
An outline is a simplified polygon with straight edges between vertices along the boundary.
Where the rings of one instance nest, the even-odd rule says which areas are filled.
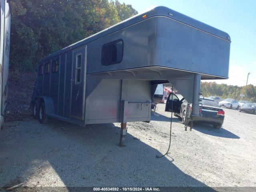
[[[102,65],[118,64],[123,58],[123,40],[116,40],[102,46],[101,61]]]

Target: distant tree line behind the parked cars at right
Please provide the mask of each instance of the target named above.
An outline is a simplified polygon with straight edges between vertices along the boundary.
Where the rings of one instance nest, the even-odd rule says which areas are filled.
[[[201,93],[204,96],[219,96],[222,99],[233,98],[236,100],[248,100],[256,102],[256,86],[232,86],[227,84],[216,84],[215,82],[201,82]],[[242,98],[240,94],[244,94]]]

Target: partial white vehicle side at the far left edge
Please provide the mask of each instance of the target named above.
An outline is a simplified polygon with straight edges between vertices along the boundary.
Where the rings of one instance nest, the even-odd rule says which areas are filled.
[[[11,12],[8,0],[0,0],[0,129],[8,97],[8,71],[10,50]]]

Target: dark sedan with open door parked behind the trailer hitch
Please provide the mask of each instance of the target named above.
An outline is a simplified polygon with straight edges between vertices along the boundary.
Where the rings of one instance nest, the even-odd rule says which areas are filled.
[[[173,99],[172,99],[173,97]],[[165,111],[172,111],[176,116],[182,118],[184,124],[186,116],[186,107],[188,102],[179,94],[170,94],[165,106]],[[173,110],[171,110],[173,108]],[[192,104],[190,104],[189,116],[192,111]],[[224,121],[224,110],[218,106],[218,103],[209,98],[200,97],[199,116],[194,118],[196,122],[204,122],[212,124],[214,128],[220,129]]]

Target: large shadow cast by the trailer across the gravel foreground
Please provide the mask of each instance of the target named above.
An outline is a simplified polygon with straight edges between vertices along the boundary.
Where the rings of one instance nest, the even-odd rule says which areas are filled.
[[[214,191],[166,157],[157,159],[158,150],[131,134],[126,147],[118,147],[120,128],[114,124],[22,124],[1,136],[0,185],[20,176],[22,182],[47,177],[46,185],[54,186],[59,177],[70,191],[74,186],[198,186]]]

